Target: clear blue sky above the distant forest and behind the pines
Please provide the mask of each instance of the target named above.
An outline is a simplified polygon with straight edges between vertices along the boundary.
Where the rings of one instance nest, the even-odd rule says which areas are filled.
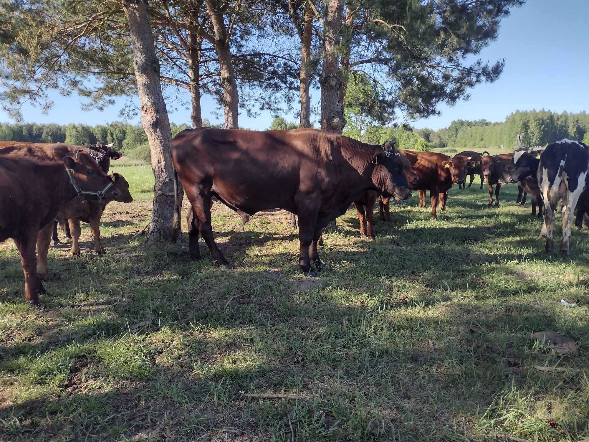
[[[440,107],[441,116],[415,121],[413,126],[438,129],[449,126],[457,118],[503,121],[516,109],[589,111],[588,17],[588,0],[528,0],[522,8],[512,9],[511,16],[502,21],[498,39],[481,53],[481,59],[491,63],[505,58],[505,70],[499,80],[478,85],[470,91],[469,101],[459,101],[454,107],[444,105]],[[100,112],[82,111],[81,98],[75,94],[62,97],[55,93],[52,98],[55,105],[48,115],[25,105],[22,109],[25,120],[104,124],[119,119],[118,111],[125,100],[121,98],[117,104]],[[313,99],[319,100],[317,91],[313,92]],[[222,116],[216,116],[213,100],[203,98],[202,107],[203,118],[209,118],[212,123],[222,121]],[[8,120],[8,117],[0,116],[0,120]],[[175,110],[170,120],[189,123],[190,111]],[[271,120],[269,113],[255,118],[243,113],[239,117],[240,126],[256,130],[264,130]],[[130,120],[131,123],[138,121],[138,118]]]

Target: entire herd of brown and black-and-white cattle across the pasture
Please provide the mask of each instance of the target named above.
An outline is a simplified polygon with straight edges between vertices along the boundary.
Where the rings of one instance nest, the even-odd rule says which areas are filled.
[[[90,223],[95,250],[104,253],[99,225],[105,205],[133,200],[124,177],[107,174],[110,160],[121,156],[111,147],[0,142],[0,242],[14,239],[25,276],[25,298],[35,306],[42,306],[41,279],[48,276],[47,252],[51,237],[58,241],[57,224],[71,232],[74,256],[80,255],[80,220]],[[389,199],[406,200],[417,190],[419,205],[425,207],[429,191],[431,218],[436,219],[436,209],[446,209],[448,190],[456,183],[464,189],[467,176],[468,187],[475,175],[481,177],[481,189],[483,181],[487,183],[489,206],[499,205],[499,191],[506,183],[518,185],[518,202],[524,203],[529,193],[532,216],[537,209],[537,216],[544,216],[540,235],[546,238],[548,253],[554,248],[554,211],[559,205],[560,250],[567,255],[575,207],[577,226],[581,227],[585,213],[589,215],[589,153],[578,141],[561,140],[545,149],[494,156],[466,150],[449,157],[396,149],[394,141],[373,146],[315,129],[197,128],[180,132],[170,152],[177,174],[174,183],[180,181],[191,206],[190,258],[201,258],[198,236],[202,235],[222,266],[229,262],[213,236],[213,196],[244,220],[278,208],[292,213],[296,226],[294,216],[298,216],[299,265],[309,276],[322,268],[317,252],[322,229],[351,203],[358,212],[360,235],[373,238],[376,200],[380,219],[391,220]],[[180,212],[176,192],[174,238],[180,231]]]

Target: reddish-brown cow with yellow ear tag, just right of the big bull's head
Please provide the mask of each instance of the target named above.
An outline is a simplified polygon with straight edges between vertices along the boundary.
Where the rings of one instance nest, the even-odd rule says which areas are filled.
[[[409,184],[412,190],[419,190],[419,206],[425,207],[425,192],[429,190],[431,200],[432,219],[436,219],[436,206],[439,200],[439,210],[446,210],[448,189],[461,178],[468,157],[448,155],[437,152],[418,152],[413,150],[399,150],[411,164],[411,169],[419,177],[418,182]]]

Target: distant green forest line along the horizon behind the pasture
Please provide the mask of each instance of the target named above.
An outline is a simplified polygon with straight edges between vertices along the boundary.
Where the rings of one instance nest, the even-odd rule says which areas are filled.
[[[216,127],[206,119],[203,126]],[[274,118],[269,128],[297,127],[282,117]],[[172,136],[189,128],[186,124],[172,123]],[[502,123],[487,120],[454,120],[449,127],[439,130],[416,129],[408,125],[399,127],[370,126],[358,128],[346,126],[343,134],[365,143],[382,144],[396,140],[399,149],[430,150],[453,148],[457,150],[504,147],[513,149],[515,137],[522,134],[524,146],[545,146],[553,141],[569,138],[589,144],[589,114],[586,112],[560,114],[541,111],[515,111]],[[127,156],[148,160],[150,156],[147,137],[141,124],[111,124],[86,126],[85,124],[11,124],[0,123],[0,141],[29,141],[31,143],[94,144],[115,143],[114,149]]]

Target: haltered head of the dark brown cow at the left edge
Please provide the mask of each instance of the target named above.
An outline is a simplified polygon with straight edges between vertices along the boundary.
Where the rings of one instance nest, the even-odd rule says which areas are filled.
[[[84,151],[78,149],[75,153],[68,153],[62,161],[71,185],[82,199],[100,202],[102,199],[115,200],[120,196],[112,180]]]

